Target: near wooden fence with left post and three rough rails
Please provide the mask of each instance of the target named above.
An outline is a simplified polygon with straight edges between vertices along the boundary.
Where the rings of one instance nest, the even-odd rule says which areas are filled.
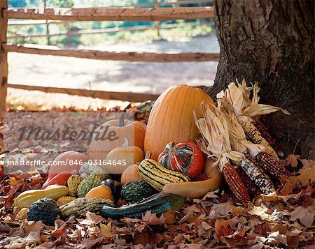
[[[125,93],[109,91],[90,91],[84,89],[63,89],[43,86],[23,86],[8,84],[8,52],[43,54],[56,56],[73,56],[85,59],[174,62],[174,61],[218,61],[218,54],[181,53],[157,54],[148,52],[105,52],[97,50],[57,50],[50,47],[7,44],[8,19],[54,20],[54,21],[162,21],[193,20],[213,18],[213,7],[181,8],[43,8],[43,9],[10,9],[7,1],[0,1],[0,110],[6,109],[7,87],[39,90],[45,92],[68,93],[97,98],[129,100],[133,102],[155,100],[157,95],[147,93]],[[35,21],[36,22],[36,21]]]

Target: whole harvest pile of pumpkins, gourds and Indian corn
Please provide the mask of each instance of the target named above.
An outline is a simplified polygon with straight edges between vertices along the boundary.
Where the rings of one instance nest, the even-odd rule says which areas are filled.
[[[88,163],[66,167],[67,171],[52,166],[41,190],[15,198],[14,206],[21,209],[18,216],[47,225],[87,211],[104,218],[141,218],[148,210],[179,211],[186,198],[202,198],[218,189],[240,204],[274,193],[274,184],[290,172],[278,163],[283,153],[257,116],[288,112],[258,103],[258,92],[257,85],[231,83],[218,93],[214,105],[198,87],[167,89],[153,105],[147,126],[126,120],[123,112],[119,120],[95,131],[107,127],[118,139],[104,142],[94,135],[88,158],[74,151],[55,158],[126,164],[106,165],[106,170]]]

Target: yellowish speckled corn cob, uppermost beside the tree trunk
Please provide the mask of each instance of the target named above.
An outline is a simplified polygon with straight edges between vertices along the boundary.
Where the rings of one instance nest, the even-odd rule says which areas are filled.
[[[267,140],[261,135],[259,130],[255,127],[253,119],[249,116],[238,116],[237,120],[241,123],[246,137],[248,137],[254,144],[261,144],[265,146],[266,152],[269,153],[275,160],[279,160],[278,154],[272,146],[267,142]]]

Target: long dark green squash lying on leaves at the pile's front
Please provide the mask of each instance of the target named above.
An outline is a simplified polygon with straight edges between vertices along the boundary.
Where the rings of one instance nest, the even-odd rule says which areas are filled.
[[[120,219],[128,218],[141,218],[146,211],[150,210],[151,213],[165,213],[169,210],[179,211],[185,202],[184,197],[180,195],[158,193],[141,202],[114,208],[111,206],[103,206],[101,209],[101,216],[104,218]]]

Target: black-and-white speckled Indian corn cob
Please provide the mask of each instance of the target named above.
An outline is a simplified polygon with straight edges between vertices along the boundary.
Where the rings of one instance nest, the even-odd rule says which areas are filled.
[[[265,177],[265,174],[261,172],[260,169],[258,169],[258,167],[256,167],[255,164],[251,162],[251,160],[241,160],[239,162],[239,166],[244,169],[244,172],[246,172],[251,181],[255,183],[255,186],[259,188],[261,193],[268,195],[275,191],[271,181]]]

